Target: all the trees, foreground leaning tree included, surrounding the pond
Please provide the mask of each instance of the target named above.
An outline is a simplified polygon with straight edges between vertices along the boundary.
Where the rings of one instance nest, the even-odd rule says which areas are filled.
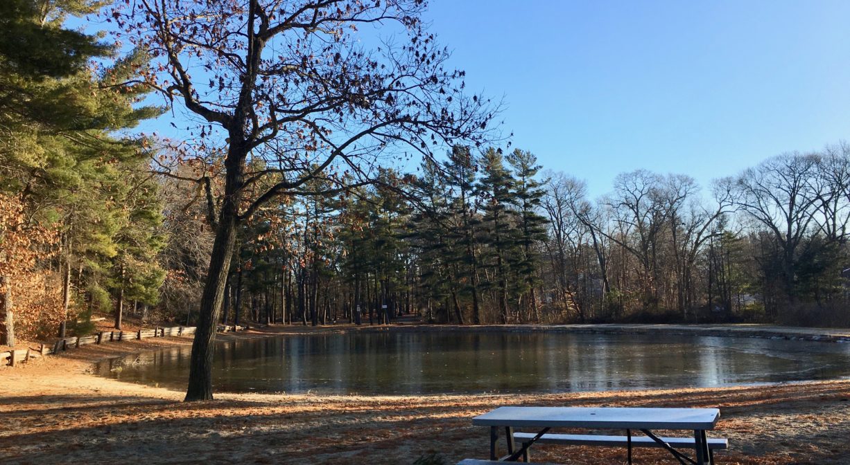
[[[594,200],[490,132],[421,2],[100,7],[0,3],[4,345],[127,311],[201,359],[218,322],[850,324],[845,143]],[[167,109],[181,140],[133,130]]]

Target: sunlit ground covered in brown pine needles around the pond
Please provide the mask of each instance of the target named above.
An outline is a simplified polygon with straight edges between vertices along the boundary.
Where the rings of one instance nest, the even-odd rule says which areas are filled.
[[[219,338],[339,328],[265,328]],[[0,367],[0,463],[411,464],[437,454],[453,464],[488,454],[489,431],[470,419],[496,406],[705,406],[729,439],[722,464],[850,463],[850,381],[723,389],[550,395],[328,396],[183,393],[90,374],[94,361],[190,339],[87,345],[18,367]],[[681,433],[681,432],[679,432]],[[623,463],[623,449],[541,445],[540,462]],[[636,464],[672,463],[638,449]]]

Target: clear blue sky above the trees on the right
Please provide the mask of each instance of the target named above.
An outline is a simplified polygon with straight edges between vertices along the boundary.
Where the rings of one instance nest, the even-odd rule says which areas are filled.
[[[513,146],[606,193],[647,168],[706,185],[850,138],[850,2],[432,0]]]

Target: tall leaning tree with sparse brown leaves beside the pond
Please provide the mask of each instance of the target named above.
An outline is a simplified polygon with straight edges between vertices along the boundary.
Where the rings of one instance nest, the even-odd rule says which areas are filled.
[[[111,20],[152,58],[143,84],[189,112],[202,153],[223,146],[187,401],[212,399],[212,339],[238,223],[279,196],[374,182],[382,156],[429,157],[487,126],[489,104],[464,95],[462,71],[445,70],[448,53],[423,29],[423,8],[420,0],[116,6]],[[400,42],[357,33],[393,25]],[[317,179],[328,188],[309,190]]]

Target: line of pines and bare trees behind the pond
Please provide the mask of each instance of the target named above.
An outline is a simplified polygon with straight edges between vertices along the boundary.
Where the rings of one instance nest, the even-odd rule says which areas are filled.
[[[710,196],[638,170],[595,200],[529,152],[473,152],[263,212],[241,232],[225,305],[302,324],[847,324],[844,143],[775,156]]]

